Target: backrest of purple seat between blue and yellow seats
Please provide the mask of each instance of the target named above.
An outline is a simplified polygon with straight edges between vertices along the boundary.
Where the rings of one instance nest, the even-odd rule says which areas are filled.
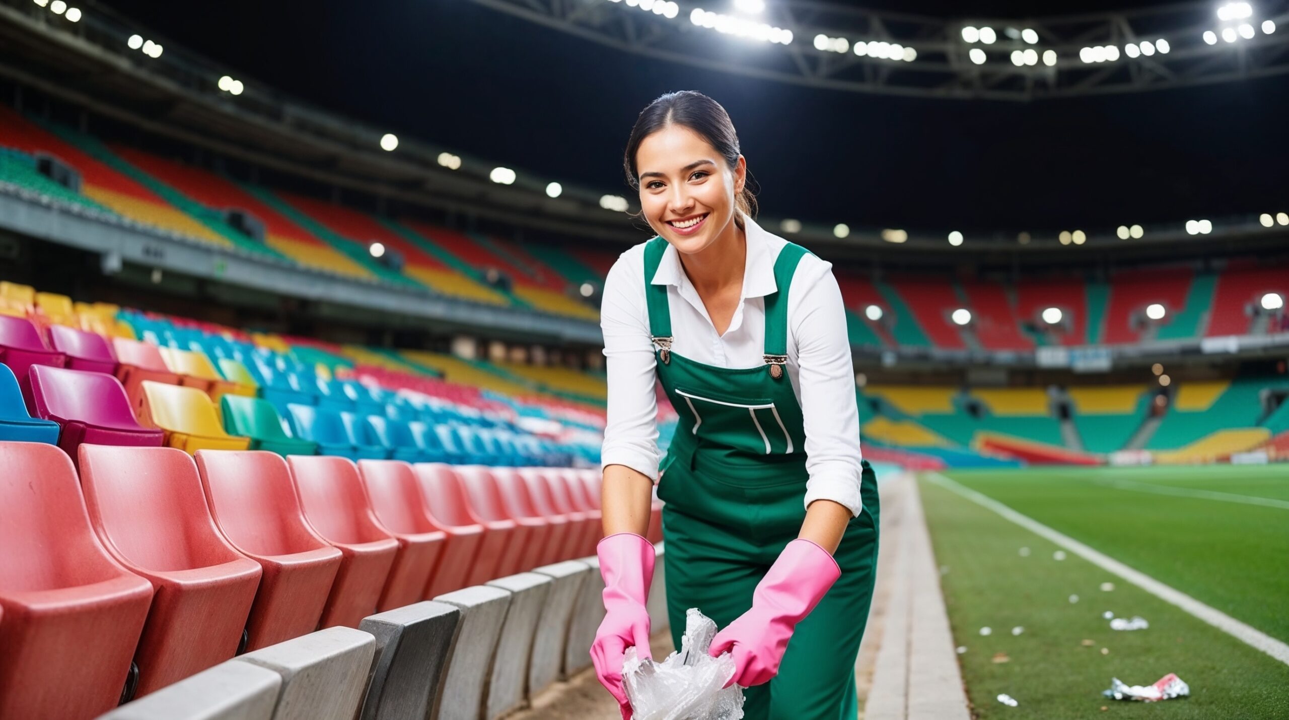
[[[121,381],[112,375],[48,365],[32,365],[30,373],[39,417],[122,430],[141,427]]]

